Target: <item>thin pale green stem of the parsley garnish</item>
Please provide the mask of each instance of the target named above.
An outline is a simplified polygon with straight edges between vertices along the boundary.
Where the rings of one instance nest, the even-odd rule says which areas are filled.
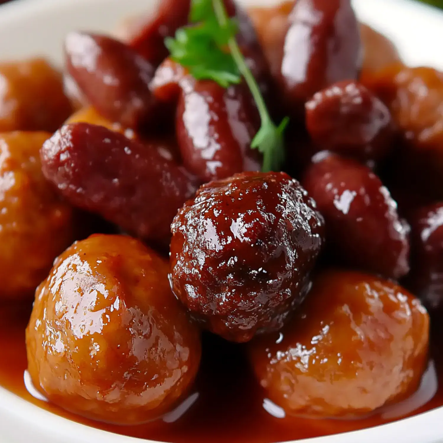
[[[212,0],[212,4],[214,6],[215,16],[217,18],[220,27],[224,29],[229,28],[229,17],[228,14],[226,13],[223,0]],[[273,125],[272,119],[268,113],[268,108],[261,94],[260,87],[257,85],[257,82],[251,70],[249,69],[248,65],[245,62],[245,58],[243,57],[243,54],[240,51],[240,47],[238,46],[235,36],[229,37],[228,47],[229,51],[231,52],[232,58],[237,64],[238,70],[240,71],[243,78],[245,78],[245,81],[248,84],[249,89],[253,95],[253,98],[257,105],[258,112],[260,113],[262,125],[266,124]]]

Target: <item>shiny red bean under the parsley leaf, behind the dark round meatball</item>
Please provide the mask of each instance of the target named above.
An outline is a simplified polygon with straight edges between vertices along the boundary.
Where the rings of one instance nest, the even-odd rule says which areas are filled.
[[[250,148],[258,129],[258,113],[242,85],[190,82],[180,95],[176,131],[183,163],[205,182],[259,171],[260,154]]]

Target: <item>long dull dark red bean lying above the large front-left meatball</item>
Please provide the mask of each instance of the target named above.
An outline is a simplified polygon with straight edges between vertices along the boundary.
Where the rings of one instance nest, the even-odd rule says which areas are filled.
[[[68,124],[41,150],[43,174],[74,206],[167,245],[171,221],[196,188],[155,146],[102,126]]]

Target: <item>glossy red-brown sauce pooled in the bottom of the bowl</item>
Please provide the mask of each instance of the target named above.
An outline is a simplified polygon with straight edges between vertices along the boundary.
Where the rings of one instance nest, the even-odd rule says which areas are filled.
[[[172,414],[164,419],[166,421],[132,427],[97,423],[37,400],[27,391],[23,382],[27,367],[24,331],[30,311],[30,305],[0,306],[0,355],[2,361],[8,362],[0,365],[0,385],[50,412],[122,435],[177,443],[270,443],[355,431],[443,404],[443,388],[438,384],[438,378],[443,380],[443,365],[439,363],[440,356],[434,354],[435,366],[432,362],[419,392],[406,403],[359,420],[277,418],[264,408],[264,392],[249,370],[242,346],[206,335],[200,374],[189,399],[189,403],[192,400],[194,403],[181,417]],[[268,402],[265,404],[269,405]]]

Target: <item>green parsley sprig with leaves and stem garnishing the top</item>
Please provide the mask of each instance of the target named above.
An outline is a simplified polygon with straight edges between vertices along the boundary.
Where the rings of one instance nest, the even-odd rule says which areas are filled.
[[[175,39],[165,40],[171,58],[187,67],[194,78],[214,80],[223,88],[245,79],[261,119],[251,148],[263,154],[262,171],[278,171],[284,161],[283,132],[289,119],[285,118],[278,127],[272,121],[235,38],[236,20],[228,17],[223,0],[191,0],[190,23],[194,25],[177,30]]]

